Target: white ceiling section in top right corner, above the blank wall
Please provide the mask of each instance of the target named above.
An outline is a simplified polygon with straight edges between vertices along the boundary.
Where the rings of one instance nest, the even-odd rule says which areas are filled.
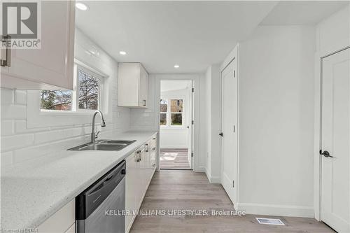
[[[312,25],[346,5],[349,1],[281,1],[261,25]]]

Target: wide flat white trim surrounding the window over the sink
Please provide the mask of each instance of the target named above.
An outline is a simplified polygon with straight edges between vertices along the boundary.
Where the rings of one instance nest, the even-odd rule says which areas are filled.
[[[74,65],[74,76],[76,80],[77,67],[84,70],[88,70],[89,73],[94,73],[99,78],[103,78],[103,91],[109,92],[110,88],[107,88],[109,76],[103,73],[102,71],[98,71],[97,69],[84,64],[83,62],[74,59],[76,65]],[[99,109],[104,113],[104,118],[106,122],[111,122],[112,113],[111,109],[109,109],[108,103],[109,101],[106,99],[109,94],[102,94],[100,87],[100,99],[103,98],[101,103],[99,103]],[[85,125],[91,124],[92,121],[92,113],[95,110],[89,109],[80,109],[80,111],[55,111],[55,110],[41,110],[41,97],[40,90],[28,90],[27,91],[27,127],[28,128],[36,128],[36,127],[61,127],[67,125]]]

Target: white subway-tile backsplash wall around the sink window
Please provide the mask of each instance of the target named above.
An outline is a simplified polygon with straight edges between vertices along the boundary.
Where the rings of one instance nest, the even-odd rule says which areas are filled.
[[[99,50],[99,57],[88,55],[86,45],[93,45]],[[129,108],[120,108],[117,103],[117,62],[109,57],[98,45],[95,45],[80,31],[76,31],[76,53],[80,60],[106,73],[109,81],[109,106],[110,120],[106,122],[103,132],[116,130],[124,132],[130,127]],[[34,111],[27,108],[27,90],[9,90],[1,88],[1,167],[6,168],[11,164],[17,164],[31,160],[35,157],[55,153],[57,149],[66,149],[88,141],[91,125],[81,122],[74,125],[57,125],[28,128],[28,113]],[[40,99],[39,99],[40,100]],[[48,115],[55,123],[55,115]],[[77,116],[74,116],[75,118]],[[79,118],[79,116],[78,116]],[[81,117],[83,118],[83,117]],[[85,118],[84,118],[85,119]],[[68,120],[69,122],[69,116]],[[53,124],[53,123],[52,123]]]

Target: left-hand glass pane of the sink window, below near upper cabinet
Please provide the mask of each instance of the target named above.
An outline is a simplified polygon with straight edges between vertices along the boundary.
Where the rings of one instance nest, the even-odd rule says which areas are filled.
[[[71,111],[71,90],[41,91],[41,109]]]

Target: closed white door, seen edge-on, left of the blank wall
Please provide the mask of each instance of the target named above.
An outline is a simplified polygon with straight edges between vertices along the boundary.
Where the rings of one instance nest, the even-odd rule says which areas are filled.
[[[237,202],[237,60],[221,72],[221,184]]]

